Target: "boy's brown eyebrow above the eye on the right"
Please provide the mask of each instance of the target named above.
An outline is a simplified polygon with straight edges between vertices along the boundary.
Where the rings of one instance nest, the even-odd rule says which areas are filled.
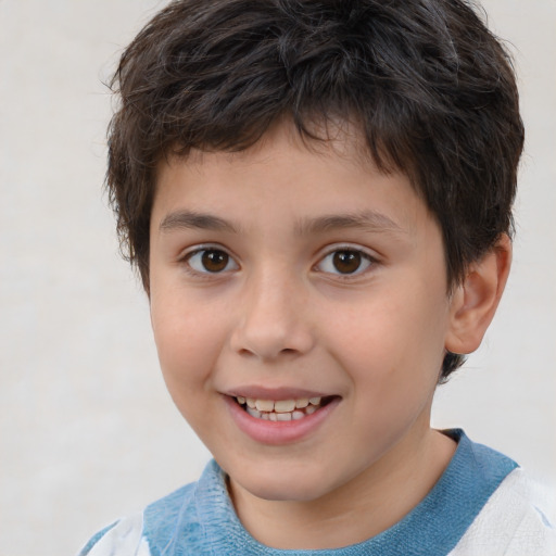
[[[350,228],[371,232],[407,233],[392,218],[375,211],[356,214],[330,214],[317,218],[302,219],[295,226],[295,233],[305,236]]]

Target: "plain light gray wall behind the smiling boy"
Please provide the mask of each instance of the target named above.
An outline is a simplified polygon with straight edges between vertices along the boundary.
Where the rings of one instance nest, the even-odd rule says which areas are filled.
[[[0,555],[75,553],[193,480],[148,305],[101,193],[108,79],[155,0],[0,0]],[[556,484],[555,0],[488,0],[514,43],[528,138],[506,296],[438,393],[462,426]]]

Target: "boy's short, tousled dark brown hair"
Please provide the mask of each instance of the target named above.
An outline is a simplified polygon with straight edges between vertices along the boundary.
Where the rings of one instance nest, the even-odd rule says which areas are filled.
[[[463,0],[177,0],[122,55],[106,184],[149,290],[156,166],[242,150],[279,118],[346,118],[438,219],[448,285],[513,228],[523,144],[510,59]],[[463,363],[446,354],[442,378]]]

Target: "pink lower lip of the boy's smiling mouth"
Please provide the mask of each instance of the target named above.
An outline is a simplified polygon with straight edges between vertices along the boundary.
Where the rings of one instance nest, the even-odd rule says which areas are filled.
[[[303,419],[267,421],[249,415],[249,413],[237,403],[235,397],[225,395],[224,399],[233,421],[242,432],[252,438],[255,442],[271,445],[290,444],[305,439],[320,427],[340,403],[340,397],[334,397],[324,407],[303,417]]]

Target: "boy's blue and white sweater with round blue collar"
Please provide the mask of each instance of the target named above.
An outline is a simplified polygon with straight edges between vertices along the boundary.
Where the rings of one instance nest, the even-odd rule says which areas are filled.
[[[460,430],[446,433],[458,442],[458,446],[438,483],[400,522],[363,543],[325,551],[282,551],[264,546],[240,523],[227,493],[225,473],[213,460],[206,466],[197,483],[188,484],[151,504],[141,515],[116,521],[99,532],[85,546],[80,556],[292,556],[294,554],[445,556],[460,554],[457,546],[463,538],[467,542],[467,536],[470,534],[466,535],[466,531],[470,529],[471,523],[488,505],[488,501],[501,483],[513,473],[517,464],[498,452],[471,442]],[[521,501],[521,497],[519,500]],[[504,505],[504,502],[500,502],[498,505]],[[519,505],[521,506],[521,502]],[[490,511],[496,516],[501,510],[505,511],[503,507],[496,507]],[[533,529],[540,528],[539,531],[542,529],[543,535],[551,533],[553,539],[553,530],[542,514],[535,514],[534,510],[532,514],[535,516]],[[530,515],[529,508],[527,510],[519,508],[519,514],[516,514],[514,519],[516,527],[523,527],[527,519],[530,519]],[[507,522],[510,521],[507,520]],[[476,529],[478,528],[477,534],[484,535],[481,520],[478,522],[479,525],[475,526]],[[488,532],[489,525],[486,523],[485,527]],[[497,526],[494,526],[494,529],[497,529]],[[530,525],[527,525],[523,538],[531,535],[530,529]],[[502,539],[505,531],[494,531],[492,534],[496,536],[500,546],[503,542],[505,543],[505,548],[500,553],[489,552],[488,556],[506,554],[506,548],[510,546],[514,539],[514,532],[508,532],[507,543]],[[548,541],[542,542],[544,544],[539,546],[546,547]],[[519,546],[522,545],[519,544]],[[547,548],[547,552],[527,552],[527,554],[556,554],[556,551],[552,553],[548,552],[549,549],[552,548]],[[486,553],[466,551],[469,548],[463,549],[462,554],[486,556]]]

